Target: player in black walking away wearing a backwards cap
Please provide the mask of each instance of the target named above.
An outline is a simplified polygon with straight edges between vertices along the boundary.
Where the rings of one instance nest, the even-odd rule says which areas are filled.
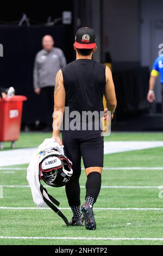
[[[101,190],[104,158],[104,137],[101,128],[97,130],[96,126],[100,123],[100,118],[92,120],[92,130],[89,129],[89,118],[85,121],[85,130],[82,129],[84,121],[76,120],[81,129],[72,130],[71,127],[64,129],[62,141],[59,137],[60,125],[65,106],[69,108],[70,113],[78,111],[80,116],[88,111],[104,113],[103,96],[105,95],[106,106],[111,111],[112,119],[117,102],[110,69],[92,60],[92,54],[97,50],[93,29],[85,27],[77,31],[74,50],[76,60],[59,70],[56,77],[53,138],[60,145],[64,144],[65,155],[72,161],[73,166],[72,178],[66,184],[68,204],[73,212],[70,225],[82,226],[85,220],[86,229],[95,230],[96,222],[92,208]],[[65,119],[66,117],[64,123]],[[71,124],[71,120],[73,118],[68,120],[68,125]],[[82,157],[87,181],[85,203],[80,208],[79,178]]]

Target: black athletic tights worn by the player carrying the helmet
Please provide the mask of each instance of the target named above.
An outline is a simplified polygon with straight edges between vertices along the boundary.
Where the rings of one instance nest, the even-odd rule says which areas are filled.
[[[72,161],[73,175],[66,184],[66,195],[70,206],[80,205],[79,178],[81,159],[84,167],[103,167],[104,138],[98,131],[63,131],[62,141],[65,155]]]

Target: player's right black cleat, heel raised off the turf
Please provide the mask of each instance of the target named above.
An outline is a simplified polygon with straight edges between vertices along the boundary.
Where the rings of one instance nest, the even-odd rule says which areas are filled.
[[[81,207],[81,211],[84,215],[85,219],[85,228],[89,230],[95,230],[96,229],[96,221],[94,218],[93,210],[90,207],[89,204],[85,203]]]

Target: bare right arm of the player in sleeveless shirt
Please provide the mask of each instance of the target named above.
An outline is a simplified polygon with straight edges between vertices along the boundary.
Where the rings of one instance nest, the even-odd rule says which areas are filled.
[[[112,74],[111,70],[106,66],[106,86],[105,86],[105,99],[106,99],[106,107],[111,112],[111,118],[113,118],[116,106],[117,106],[117,100],[116,100],[116,94],[115,94],[115,87],[114,82],[112,80]]]

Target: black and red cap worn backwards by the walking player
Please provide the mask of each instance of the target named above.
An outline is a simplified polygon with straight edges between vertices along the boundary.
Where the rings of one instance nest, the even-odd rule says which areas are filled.
[[[93,49],[96,47],[96,35],[92,28],[79,28],[74,46],[78,49]]]

